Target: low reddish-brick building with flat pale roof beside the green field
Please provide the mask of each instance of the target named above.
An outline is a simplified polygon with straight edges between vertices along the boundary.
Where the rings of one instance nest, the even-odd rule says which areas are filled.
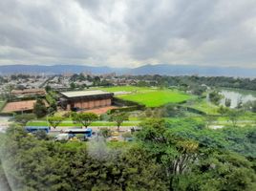
[[[67,110],[86,110],[112,105],[114,94],[96,91],[61,92],[60,104]]]

